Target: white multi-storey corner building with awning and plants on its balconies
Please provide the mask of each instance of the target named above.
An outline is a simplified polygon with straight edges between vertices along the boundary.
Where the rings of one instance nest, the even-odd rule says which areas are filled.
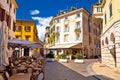
[[[93,28],[97,29],[99,23],[84,8],[63,12],[63,14],[54,17],[50,23],[51,35],[48,39],[50,43],[48,49],[53,50],[55,55],[59,53],[76,54],[80,52],[90,58],[100,54],[100,49],[96,47],[96,44],[94,42],[90,44],[89,29],[90,27],[92,29],[93,23],[96,24],[96,27]],[[92,35],[92,38],[98,37],[100,39],[100,36]],[[100,44],[100,40],[98,40],[97,44]],[[99,53],[96,53],[97,49]]]

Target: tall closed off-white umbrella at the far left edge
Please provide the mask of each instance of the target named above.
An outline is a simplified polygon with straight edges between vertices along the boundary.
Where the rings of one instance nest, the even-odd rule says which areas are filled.
[[[7,55],[7,45],[8,45],[8,27],[7,23],[3,21],[0,24],[0,65],[8,65],[8,55]]]

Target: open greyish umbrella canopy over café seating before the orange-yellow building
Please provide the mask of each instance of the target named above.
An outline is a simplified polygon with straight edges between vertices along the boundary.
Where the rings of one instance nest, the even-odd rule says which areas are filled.
[[[31,42],[22,39],[9,39],[8,43],[12,47],[31,47],[31,48],[42,48],[42,45],[38,42]]]

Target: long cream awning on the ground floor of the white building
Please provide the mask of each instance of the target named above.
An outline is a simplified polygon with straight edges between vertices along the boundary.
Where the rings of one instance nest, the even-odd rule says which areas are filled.
[[[82,43],[59,44],[59,45],[51,46],[47,49],[70,49],[70,48],[80,49],[80,48],[82,48]]]

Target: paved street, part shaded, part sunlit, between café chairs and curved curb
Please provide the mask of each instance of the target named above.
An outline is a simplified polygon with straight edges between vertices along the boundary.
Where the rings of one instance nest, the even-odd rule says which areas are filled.
[[[83,64],[73,61],[68,63],[46,62],[46,80],[98,80],[87,72],[87,66],[94,61],[85,60]]]

